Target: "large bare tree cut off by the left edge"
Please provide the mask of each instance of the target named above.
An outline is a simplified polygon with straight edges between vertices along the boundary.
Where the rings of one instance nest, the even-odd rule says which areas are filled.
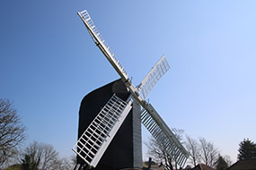
[[[25,140],[21,117],[8,99],[0,98],[0,166],[18,153]]]

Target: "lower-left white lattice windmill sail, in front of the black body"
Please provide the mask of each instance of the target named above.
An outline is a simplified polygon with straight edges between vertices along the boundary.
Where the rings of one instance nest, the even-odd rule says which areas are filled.
[[[128,98],[128,102],[125,102],[114,94],[77,140],[73,150],[86,164],[97,166],[127,117],[132,107],[131,103],[132,99]]]

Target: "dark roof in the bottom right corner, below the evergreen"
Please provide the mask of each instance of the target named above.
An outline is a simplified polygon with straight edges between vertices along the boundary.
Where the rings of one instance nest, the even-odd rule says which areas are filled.
[[[256,158],[239,160],[228,170],[256,170]]]

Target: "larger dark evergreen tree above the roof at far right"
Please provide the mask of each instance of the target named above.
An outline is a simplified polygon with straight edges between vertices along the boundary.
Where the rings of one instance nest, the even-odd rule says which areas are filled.
[[[256,144],[252,140],[245,140],[239,143],[238,160],[256,157]]]

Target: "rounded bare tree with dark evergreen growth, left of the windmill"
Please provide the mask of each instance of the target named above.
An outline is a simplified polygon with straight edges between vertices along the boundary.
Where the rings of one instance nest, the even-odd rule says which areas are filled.
[[[56,170],[61,161],[53,146],[34,141],[23,153],[22,166],[31,167],[28,170]]]

